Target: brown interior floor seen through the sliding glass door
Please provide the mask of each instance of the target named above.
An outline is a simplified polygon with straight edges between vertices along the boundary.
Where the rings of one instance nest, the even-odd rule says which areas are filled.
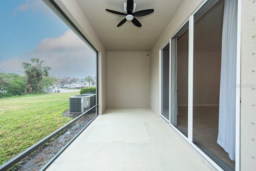
[[[235,170],[235,161],[217,143],[218,106],[193,107],[193,138]],[[188,132],[188,107],[178,107],[178,127]]]

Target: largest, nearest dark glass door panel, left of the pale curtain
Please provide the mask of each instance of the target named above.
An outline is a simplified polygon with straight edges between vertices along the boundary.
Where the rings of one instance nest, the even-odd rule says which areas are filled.
[[[193,143],[222,168],[232,170],[235,162],[217,143],[223,13],[220,0],[205,4],[194,15]]]

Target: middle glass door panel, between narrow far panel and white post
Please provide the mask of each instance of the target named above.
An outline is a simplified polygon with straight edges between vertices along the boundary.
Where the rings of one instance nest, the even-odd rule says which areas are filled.
[[[171,40],[171,123],[188,137],[188,22]]]

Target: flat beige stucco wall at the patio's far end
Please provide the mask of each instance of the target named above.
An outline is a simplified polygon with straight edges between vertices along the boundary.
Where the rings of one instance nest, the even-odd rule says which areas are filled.
[[[149,108],[150,53],[107,52],[109,108]]]

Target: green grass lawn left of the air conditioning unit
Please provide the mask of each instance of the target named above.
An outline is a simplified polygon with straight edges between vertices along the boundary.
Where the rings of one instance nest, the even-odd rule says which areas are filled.
[[[69,98],[79,92],[0,99],[0,165],[68,123]]]

